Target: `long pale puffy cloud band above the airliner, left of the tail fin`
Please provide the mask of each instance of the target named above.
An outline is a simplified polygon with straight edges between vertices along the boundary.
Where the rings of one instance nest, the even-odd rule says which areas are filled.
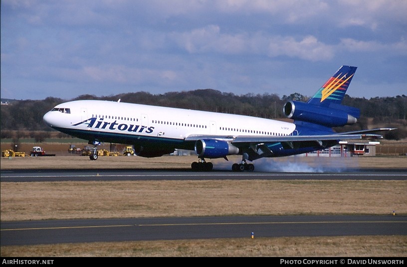
[[[222,34],[220,27],[209,25],[191,32],[174,32],[170,39],[189,53],[254,54],[269,57],[288,56],[311,61],[329,60],[334,49],[317,40],[315,36],[305,36],[296,40],[291,36],[254,34]]]

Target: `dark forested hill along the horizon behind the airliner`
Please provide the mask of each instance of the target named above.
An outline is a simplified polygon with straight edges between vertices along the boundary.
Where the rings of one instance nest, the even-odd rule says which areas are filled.
[[[94,95],[81,95],[72,100],[96,99],[121,102],[166,106],[183,109],[196,109],[220,113],[240,114],[267,119],[284,119],[282,108],[288,100],[307,101],[308,97],[294,93],[289,96],[278,97],[274,94],[234,95],[222,93],[212,89],[199,89],[194,91],[170,92],[152,95],[147,92],[126,93],[112,96],[96,97]],[[7,105],[1,105],[1,138],[4,131],[51,131],[43,121],[42,116],[57,104],[71,101],[48,97],[44,100],[9,100]],[[3,101],[2,101],[3,103]],[[352,98],[345,96],[344,105],[357,107],[361,110],[359,123],[350,129],[367,129],[369,125],[381,125],[401,129],[406,127],[407,96],[376,97],[371,99]],[[368,121],[368,119],[370,119]],[[385,127],[385,126],[383,126]],[[369,127],[370,128],[370,127]],[[340,131],[339,129],[337,131]],[[390,138],[404,138],[407,134],[395,132],[397,136]],[[400,135],[401,134],[401,135]]]

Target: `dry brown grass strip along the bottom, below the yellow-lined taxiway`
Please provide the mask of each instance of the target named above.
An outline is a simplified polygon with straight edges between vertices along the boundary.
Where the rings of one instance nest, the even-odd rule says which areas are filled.
[[[406,236],[137,241],[1,248],[1,257],[406,257]],[[120,262],[117,262],[120,263]]]

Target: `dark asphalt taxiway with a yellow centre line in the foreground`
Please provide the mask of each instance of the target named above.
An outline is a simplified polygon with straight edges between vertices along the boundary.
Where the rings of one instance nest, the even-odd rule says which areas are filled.
[[[407,235],[405,216],[234,216],[2,222],[1,246],[141,240]]]

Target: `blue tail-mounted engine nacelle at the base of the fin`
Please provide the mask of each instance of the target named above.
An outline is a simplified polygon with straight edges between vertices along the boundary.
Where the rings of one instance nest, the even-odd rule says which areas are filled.
[[[352,109],[352,107],[342,107]],[[326,127],[340,127],[357,122],[355,117],[344,110],[315,106],[298,101],[288,101],[285,103],[283,111],[287,118]]]

